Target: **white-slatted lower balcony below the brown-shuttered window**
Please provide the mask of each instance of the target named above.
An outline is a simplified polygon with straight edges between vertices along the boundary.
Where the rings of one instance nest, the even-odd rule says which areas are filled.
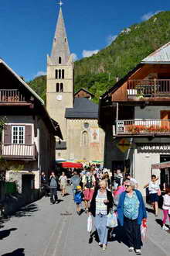
[[[2,144],[2,157],[12,160],[35,161],[36,144]]]

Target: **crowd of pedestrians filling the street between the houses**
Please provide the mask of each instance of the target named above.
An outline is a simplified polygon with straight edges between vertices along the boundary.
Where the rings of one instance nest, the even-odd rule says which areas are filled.
[[[59,178],[54,172],[49,177],[50,201],[58,201],[57,186],[61,195],[66,195],[67,178],[63,171]],[[42,186],[47,194],[46,176],[42,173]],[[126,235],[126,243],[129,251],[141,255],[142,238],[146,236],[147,213],[141,192],[138,190],[138,182],[129,173],[122,173],[117,169],[112,174],[107,169],[95,166],[83,168],[81,171],[73,171],[70,178],[73,192],[73,200],[76,203],[76,213],[80,216],[87,213],[87,225],[89,232],[92,231],[91,223],[97,230],[99,246],[103,250],[107,247],[107,238],[113,238],[117,230]],[[151,175],[148,187],[151,205],[158,216],[158,196],[161,194],[158,178]],[[166,188],[163,195],[163,220],[162,229],[166,220],[170,220],[170,188]]]

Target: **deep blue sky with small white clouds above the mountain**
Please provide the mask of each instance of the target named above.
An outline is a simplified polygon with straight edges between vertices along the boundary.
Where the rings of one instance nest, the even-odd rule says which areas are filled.
[[[0,57],[26,81],[46,74],[59,0],[0,1]],[[81,59],[107,47],[123,29],[169,11],[170,1],[63,0],[62,9],[70,51]]]

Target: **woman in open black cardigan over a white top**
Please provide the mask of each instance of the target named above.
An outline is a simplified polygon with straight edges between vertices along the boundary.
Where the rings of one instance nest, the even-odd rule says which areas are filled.
[[[102,180],[99,182],[100,189],[93,193],[93,199],[90,203],[89,214],[95,217],[95,227],[99,237],[99,245],[106,250],[107,247],[107,214],[113,207],[113,197],[111,192],[107,190],[107,182]]]

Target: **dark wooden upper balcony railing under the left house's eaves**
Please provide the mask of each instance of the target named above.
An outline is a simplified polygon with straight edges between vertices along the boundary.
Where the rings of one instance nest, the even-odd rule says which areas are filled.
[[[0,102],[26,102],[26,99],[17,89],[4,89],[0,90]]]

